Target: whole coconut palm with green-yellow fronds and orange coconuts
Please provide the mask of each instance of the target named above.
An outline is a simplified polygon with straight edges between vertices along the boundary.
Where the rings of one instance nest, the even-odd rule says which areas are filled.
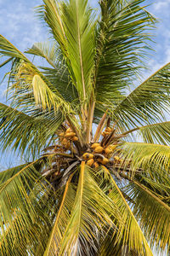
[[[43,0],[48,42],[23,54],[0,36],[1,148],[27,158],[0,172],[1,255],[169,252],[170,64],[136,87],[143,2]]]

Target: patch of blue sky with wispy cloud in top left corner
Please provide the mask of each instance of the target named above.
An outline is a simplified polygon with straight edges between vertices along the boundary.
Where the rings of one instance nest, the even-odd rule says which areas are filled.
[[[10,1],[10,4],[5,5],[0,2],[1,34],[21,50],[31,47],[34,42],[43,41],[48,37],[45,29],[34,17],[33,7],[38,4],[41,4],[41,2],[37,3],[35,0],[30,2],[23,0]]]

